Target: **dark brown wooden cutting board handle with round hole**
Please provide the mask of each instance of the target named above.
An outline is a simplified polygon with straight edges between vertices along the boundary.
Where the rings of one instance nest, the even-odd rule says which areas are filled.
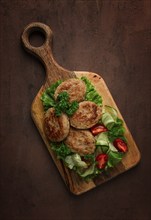
[[[45,36],[44,43],[39,47],[32,46],[29,41],[30,35],[34,31],[39,31]],[[40,22],[33,22],[25,27],[21,39],[24,48],[42,61],[48,78],[51,77],[52,81],[60,78],[69,78],[72,76],[72,72],[62,68],[53,58],[51,50],[52,36],[49,26]]]

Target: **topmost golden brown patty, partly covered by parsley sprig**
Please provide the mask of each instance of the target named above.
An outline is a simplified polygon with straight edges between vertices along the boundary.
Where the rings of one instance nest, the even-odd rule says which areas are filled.
[[[78,101],[81,102],[85,98],[86,86],[84,82],[80,79],[68,79],[62,82],[56,89],[54,97],[57,99],[57,96],[61,92],[67,92],[69,94],[69,101]]]

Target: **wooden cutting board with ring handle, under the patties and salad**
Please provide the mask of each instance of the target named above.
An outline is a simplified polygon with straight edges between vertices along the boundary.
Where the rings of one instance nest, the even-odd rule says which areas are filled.
[[[34,47],[29,42],[29,36],[34,31],[40,31],[45,35],[45,42],[40,47]],[[117,109],[119,117],[122,119],[123,117],[120,114],[118,107],[115,101],[113,100],[112,95],[109,92],[109,89],[107,88],[106,83],[104,82],[104,80],[100,75],[92,72],[69,71],[62,68],[56,63],[56,61],[53,58],[52,50],[51,50],[52,31],[47,25],[34,22],[26,26],[22,34],[22,43],[24,45],[24,48],[28,52],[38,57],[45,66],[46,82],[44,85],[42,85],[41,89],[39,90],[38,94],[36,95],[32,103],[31,115],[39,130],[40,135],[42,136],[43,141],[45,142],[45,145],[52,159],[54,160],[65,184],[68,186],[70,191],[76,195],[79,195],[134,167],[140,160],[140,152],[125,122],[124,122],[126,128],[125,136],[128,141],[129,151],[127,152],[126,156],[123,158],[122,162],[120,162],[114,169],[110,170],[108,175],[101,174],[96,179],[91,180],[89,182],[85,182],[77,174],[75,174],[73,171],[65,167],[64,164],[56,158],[56,155],[51,150],[48,139],[44,134],[44,130],[43,130],[44,110],[40,97],[44,92],[44,90],[52,83],[56,82],[58,79],[65,80],[73,77],[80,78],[81,76],[86,76],[95,86],[98,93],[102,96],[103,103]]]

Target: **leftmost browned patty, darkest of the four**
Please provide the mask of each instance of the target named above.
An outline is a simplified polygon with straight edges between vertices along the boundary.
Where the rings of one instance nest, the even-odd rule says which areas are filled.
[[[49,140],[55,142],[64,140],[69,133],[69,128],[69,120],[65,114],[57,117],[54,108],[48,109],[44,119],[44,131]]]

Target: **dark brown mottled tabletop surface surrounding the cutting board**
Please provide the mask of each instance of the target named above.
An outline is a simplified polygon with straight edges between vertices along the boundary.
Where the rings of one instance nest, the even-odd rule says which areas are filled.
[[[151,218],[150,3],[0,1],[1,220]],[[52,28],[59,64],[102,75],[142,154],[137,167],[81,196],[66,189],[30,117],[45,78],[21,46],[21,32],[33,21]]]

